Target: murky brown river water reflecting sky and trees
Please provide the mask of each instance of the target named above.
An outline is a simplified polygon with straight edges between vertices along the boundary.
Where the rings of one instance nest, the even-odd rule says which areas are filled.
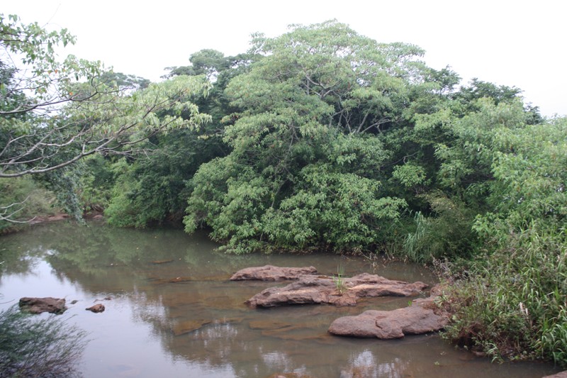
[[[434,284],[426,269],[334,255],[215,252],[182,230],[113,229],[57,222],[0,237],[0,309],[22,296],[67,299],[62,315],[89,333],[84,377],[542,377],[541,363],[491,364],[438,335],[402,340],[327,334],[339,316],[408,305],[369,299],[356,307],[255,310],[244,301],[273,282],[230,282],[238,269],[313,265],[322,274],[380,274]],[[103,300],[110,297],[110,300]],[[102,301],[96,301],[101,299]],[[77,300],[77,304],[69,302]],[[106,311],[85,311],[103,303]]]

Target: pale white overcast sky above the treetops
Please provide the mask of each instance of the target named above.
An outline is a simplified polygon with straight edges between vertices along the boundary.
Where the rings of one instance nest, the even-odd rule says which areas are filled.
[[[67,28],[77,45],[65,52],[152,81],[203,48],[235,55],[250,33],[337,18],[379,42],[420,46],[430,67],[450,65],[462,84],[515,86],[544,116],[567,115],[564,0],[3,0],[0,13]]]

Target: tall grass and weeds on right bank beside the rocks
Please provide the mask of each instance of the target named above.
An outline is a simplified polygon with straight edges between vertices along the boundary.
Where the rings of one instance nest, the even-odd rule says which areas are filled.
[[[543,359],[567,366],[565,229],[509,235],[452,285],[454,322],[445,336],[495,360]]]

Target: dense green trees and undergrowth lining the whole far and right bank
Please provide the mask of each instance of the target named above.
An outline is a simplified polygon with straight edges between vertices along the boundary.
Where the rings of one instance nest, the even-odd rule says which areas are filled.
[[[2,43],[58,72],[6,30],[45,30],[2,18]],[[1,60],[0,227],[26,219],[12,209],[32,189],[64,187],[53,201],[68,211],[183,221],[228,252],[441,261],[448,338],[567,365],[567,119],[542,118],[516,87],[459,87],[423,54],[327,21],[254,35],[235,57],[195,52],[159,83],[73,61],[75,81],[33,83],[57,89],[56,117]]]

